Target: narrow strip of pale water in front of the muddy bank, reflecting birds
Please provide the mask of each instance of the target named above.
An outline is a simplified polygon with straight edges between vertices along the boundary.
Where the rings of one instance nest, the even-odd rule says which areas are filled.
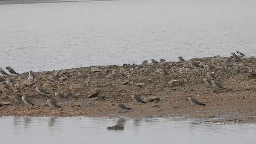
[[[5,144],[252,144],[255,124],[200,124],[189,120],[123,119],[124,130],[107,130],[117,119],[1,117]]]

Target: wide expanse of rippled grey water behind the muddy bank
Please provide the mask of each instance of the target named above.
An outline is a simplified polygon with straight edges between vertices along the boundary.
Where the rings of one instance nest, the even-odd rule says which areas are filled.
[[[256,56],[255,0],[0,5],[1,68],[16,72],[178,56]]]

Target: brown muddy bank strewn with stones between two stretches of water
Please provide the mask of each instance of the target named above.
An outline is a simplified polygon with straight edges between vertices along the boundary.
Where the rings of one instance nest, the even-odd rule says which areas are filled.
[[[211,120],[224,123],[256,122],[256,58],[243,58],[229,66],[222,64],[226,58],[216,56],[194,58],[204,68],[193,67],[189,61],[164,62],[148,68],[136,64],[123,66],[96,66],[36,72],[33,81],[28,74],[0,77],[0,115],[2,116],[87,116],[118,118],[184,117]],[[246,62],[248,66],[241,66]],[[218,82],[226,89],[207,86],[206,77],[210,63]],[[240,73],[234,71],[239,66]],[[160,67],[169,75],[159,72]],[[112,69],[118,70],[116,78],[105,78]],[[4,69],[8,72],[6,69]],[[15,70],[15,68],[14,68]],[[60,81],[50,77],[56,74]],[[7,84],[4,80],[14,77],[15,82]],[[129,80],[128,84],[120,85]],[[138,83],[141,83],[138,86]],[[50,94],[39,94],[36,86],[41,85]],[[59,90],[68,100],[56,98],[54,92]],[[96,93],[97,92],[97,93]],[[96,93],[96,94],[95,94]],[[27,96],[36,106],[15,102],[12,95]],[[93,97],[92,94],[94,94]],[[155,96],[160,100],[147,104],[136,104],[132,94],[138,94],[142,100]],[[192,106],[187,96],[192,95],[207,106]],[[89,98],[93,97],[93,98]],[[47,99],[57,102],[62,108],[51,108]],[[119,113],[115,103],[122,102],[133,108]],[[214,119],[208,119],[212,118]]]

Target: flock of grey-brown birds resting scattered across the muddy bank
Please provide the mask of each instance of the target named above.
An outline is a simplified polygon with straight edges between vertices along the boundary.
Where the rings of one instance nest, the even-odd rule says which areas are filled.
[[[236,52],[236,53],[231,53],[232,56],[230,56],[229,58],[227,58],[225,60],[225,62],[223,64],[226,64],[226,65],[229,65],[232,63],[233,61],[233,58],[234,60],[240,60],[241,58],[243,57],[246,57],[244,54],[242,54],[241,52]],[[179,58],[179,61],[182,62],[182,61],[186,61],[184,60],[181,56],[178,57]],[[199,68],[204,68],[203,66],[200,66],[199,64],[197,64],[194,60],[190,59],[190,64],[194,67],[199,67]],[[160,62],[165,62],[164,59],[160,59]],[[157,64],[159,62],[157,62],[156,60],[154,59],[151,59],[151,64],[148,64],[148,61],[147,60],[144,60],[142,61],[142,64],[141,66],[147,68],[147,67],[150,67],[152,64]],[[242,65],[246,66],[246,63],[243,62]],[[214,69],[213,66],[211,66],[210,64],[207,65],[207,68],[209,70],[211,69]],[[17,72],[15,72],[10,66],[7,66],[6,67],[6,70],[8,70],[10,72],[10,74],[19,74]],[[164,75],[168,75],[168,72],[163,68],[161,67],[160,68],[160,72]],[[8,76],[10,74],[7,74],[4,70],[2,70],[2,68],[0,68],[0,74],[2,74],[3,76]],[[108,76],[106,76],[106,78],[115,78],[118,74],[118,71],[116,69],[112,70],[111,74],[109,74]],[[216,76],[214,76],[214,72],[206,72],[206,78],[204,78],[204,82],[208,85],[208,86],[214,86],[216,89],[217,88],[220,88],[220,89],[224,89],[224,87],[219,84],[217,82],[217,78]],[[30,71],[29,74],[28,74],[28,80],[34,80],[35,78],[35,73]],[[51,74],[51,78],[52,80],[55,80],[55,81],[59,81],[60,79],[55,76],[54,74]],[[15,79],[13,77],[9,77],[9,78],[6,78],[5,82],[7,84],[10,84],[10,83],[14,83]],[[44,90],[42,87],[40,86],[36,86],[36,91],[40,94],[50,94],[48,92],[46,92],[46,90]],[[66,98],[69,98],[69,97],[66,97],[64,96],[60,91],[56,91],[54,92],[55,96],[57,98],[61,98],[61,99],[66,99]],[[17,102],[24,102],[25,104],[29,104],[29,105],[35,105],[34,103],[31,102],[31,100],[29,100],[28,98],[26,98],[26,96],[22,96],[22,98],[16,94],[13,95],[13,98],[15,101]],[[146,104],[147,102],[144,102],[137,94],[133,94],[132,95],[132,99],[137,103],[144,103]],[[188,96],[188,100],[191,104],[194,105],[202,105],[202,106],[206,106],[206,104],[203,104],[201,102],[199,102],[198,100],[196,100],[195,98],[193,98],[192,96]],[[56,108],[61,108],[62,106],[59,106],[58,104],[56,104],[56,102],[54,102],[52,99],[47,99],[47,104],[50,106],[50,107],[56,107]],[[126,106],[124,106],[124,104],[122,104],[121,102],[116,102],[116,106],[120,109],[120,111],[122,110],[132,110],[132,108],[127,108]]]

